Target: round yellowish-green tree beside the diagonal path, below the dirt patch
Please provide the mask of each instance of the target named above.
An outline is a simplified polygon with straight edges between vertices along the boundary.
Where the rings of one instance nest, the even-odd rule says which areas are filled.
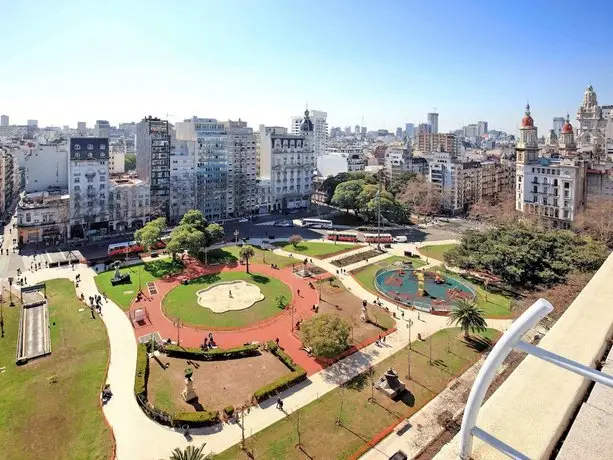
[[[313,316],[300,327],[302,342],[313,355],[334,358],[349,346],[349,324],[329,313]]]

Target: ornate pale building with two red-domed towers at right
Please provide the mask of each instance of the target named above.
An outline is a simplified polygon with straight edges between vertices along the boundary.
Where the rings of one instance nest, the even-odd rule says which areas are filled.
[[[516,145],[516,209],[552,227],[568,228],[587,194],[587,165],[578,155],[568,118],[558,148],[558,155],[539,155],[537,128],[527,105]]]

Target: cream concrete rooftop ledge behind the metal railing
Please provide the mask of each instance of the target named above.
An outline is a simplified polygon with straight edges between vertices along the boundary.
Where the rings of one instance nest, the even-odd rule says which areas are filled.
[[[539,346],[594,367],[613,326],[613,255],[556,322]],[[591,382],[528,356],[483,405],[477,426],[531,459],[549,458]],[[456,436],[435,457],[457,458]],[[474,440],[473,458],[506,459]]]

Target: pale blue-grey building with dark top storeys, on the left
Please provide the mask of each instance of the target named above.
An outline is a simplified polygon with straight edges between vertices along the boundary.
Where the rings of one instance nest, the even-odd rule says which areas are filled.
[[[69,238],[105,235],[109,231],[109,140],[73,137],[69,155]]]

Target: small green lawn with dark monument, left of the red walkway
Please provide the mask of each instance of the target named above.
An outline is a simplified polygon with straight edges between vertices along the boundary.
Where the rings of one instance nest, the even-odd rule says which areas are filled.
[[[121,273],[130,273],[130,282],[118,286],[111,285],[111,278],[115,270],[108,270],[96,276],[96,286],[100,293],[106,295],[124,310],[129,310],[132,301],[138,293],[138,284],[142,289],[146,289],[147,283],[163,278],[166,275],[179,273],[183,269],[180,262],[171,258],[163,258],[139,265],[131,265],[121,268]]]

